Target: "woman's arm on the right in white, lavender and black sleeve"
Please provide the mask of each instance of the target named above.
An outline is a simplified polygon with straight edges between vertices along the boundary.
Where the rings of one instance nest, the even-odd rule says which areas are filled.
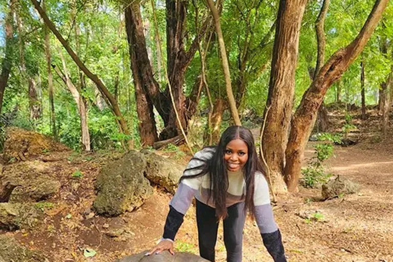
[[[270,205],[268,183],[262,174],[255,174],[254,205],[256,224],[266,249],[273,257],[274,262],[287,262],[281,233],[274,221]]]

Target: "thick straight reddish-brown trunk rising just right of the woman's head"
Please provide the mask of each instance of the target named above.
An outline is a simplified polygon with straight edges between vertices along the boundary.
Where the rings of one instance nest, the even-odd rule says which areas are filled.
[[[285,192],[282,174],[288,128],[293,107],[295,69],[301,20],[306,0],[280,0],[266,108],[267,125],[263,134],[263,153],[271,170],[275,193]]]

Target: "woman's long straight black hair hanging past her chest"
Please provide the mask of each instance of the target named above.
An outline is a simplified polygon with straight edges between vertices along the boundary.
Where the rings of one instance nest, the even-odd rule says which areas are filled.
[[[203,176],[206,173],[209,173],[210,191],[208,202],[212,193],[217,219],[225,219],[225,217],[227,217],[228,215],[226,207],[226,197],[229,183],[227,164],[224,161],[224,155],[227,144],[234,139],[241,139],[247,144],[248,159],[243,167],[243,176],[246,182],[244,211],[249,211],[251,216],[254,217],[255,172],[265,172],[256,153],[254,138],[249,129],[238,125],[228,127],[222,134],[220,142],[215,147],[211,147],[215,148],[215,151],[210,159],[200,159],[194,157],[193,159],[202,161],[203,163],[200,166],[184,170],[184,173],[188,170],[195,169],[201,170],[201,172],[193,174],[191,176],[185,176],[183,173],[183,176],[180,178],[180,181],[182,181],[183,179],[197,178]],[[191,161],[193,159],[191,159]]]

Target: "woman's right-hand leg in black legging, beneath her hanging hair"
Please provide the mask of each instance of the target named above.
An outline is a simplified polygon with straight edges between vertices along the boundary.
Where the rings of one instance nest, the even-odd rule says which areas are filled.
[[[224,243],[228,262],[242,261],[243,228],[246,221],[244,202],[228,207],[228,216],[224,220]]]

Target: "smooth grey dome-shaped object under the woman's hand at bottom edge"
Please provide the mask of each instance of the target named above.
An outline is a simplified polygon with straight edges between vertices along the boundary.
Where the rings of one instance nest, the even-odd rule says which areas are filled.
[[[176,252],[171,255],[168,251],[159,254],[146,256],[148,251],[143,251],[139,254],[123,257],[116,262],[208,262],[208,260],[186,252]]]

